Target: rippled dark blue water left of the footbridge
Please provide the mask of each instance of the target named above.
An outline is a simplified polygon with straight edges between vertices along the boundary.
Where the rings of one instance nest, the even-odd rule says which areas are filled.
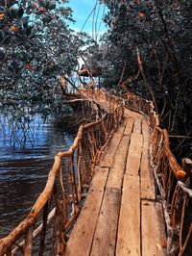
[[[36,115],[24,144],[12,146],[12,130],[0,115],[0,238],[26,217],[42,192],[54,155],[66,150],[74,136],[64,131],[61,120],[43,122]],[[19,131],[16,131],[18,138]]]

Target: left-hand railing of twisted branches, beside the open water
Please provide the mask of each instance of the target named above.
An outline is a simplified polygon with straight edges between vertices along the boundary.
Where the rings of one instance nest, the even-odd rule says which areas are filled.
[[[94,166],[124,115],[124,102],[119,98],[108,96],[105,91],[97,91],[92,96],[95,101],[102,100],[106,114],[81,125],[70,149],[55,156],[46,186],[27,218],[0,240],[0,255],[15,255],[18,251],[23,255],[43,255],[45,243],[50,249],[49,255],[63,254]]]

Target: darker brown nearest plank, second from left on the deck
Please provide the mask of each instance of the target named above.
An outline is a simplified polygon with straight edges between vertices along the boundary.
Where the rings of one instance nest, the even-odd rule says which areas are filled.
[[[108,188],[99,214],[91,256],[114,255],[120,203],[121,190]]]

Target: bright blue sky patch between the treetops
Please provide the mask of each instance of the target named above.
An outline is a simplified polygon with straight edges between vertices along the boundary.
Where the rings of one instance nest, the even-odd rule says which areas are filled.
[[[97,6],[95,10],[95,18],[93,17],[93,13],[94,13],[93,12],[84,26],[84,22],[86,18],[94,9],[96,3],[97,3]],[[71,24],[71,28],[74,29],[75,31],[81,31],[81,29],[84,26],[84,32],[87,32],[92,36],[92,32],[93,32],[92,25],[93,25],[93,21],[96,20],[97,16],[98,16],[97,22],[94,22],[94,31],[96,31],[94,35],[98,36],[98,34],[101,35],[107,31],[106,25],[102,21],[102,16],[104,13],[104,4],[99,4],[99,1],[97,0],[69,0],[68,6],[72,8],[73,18],[76,20],[75,24]],[[105,9],[105,12],[106,12],[106,9]],[[96,26],[96,29],[95,29],[95,26]]]

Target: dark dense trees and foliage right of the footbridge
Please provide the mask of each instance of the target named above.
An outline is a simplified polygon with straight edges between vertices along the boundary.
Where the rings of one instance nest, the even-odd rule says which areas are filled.
[[[108,33],[90,56],[103,66],[103,84],[152,99],[170,134],[191,137],[192,2],[102,2],[108,6]],[[176,151],[190,157],[190,141],[180,138]]]

